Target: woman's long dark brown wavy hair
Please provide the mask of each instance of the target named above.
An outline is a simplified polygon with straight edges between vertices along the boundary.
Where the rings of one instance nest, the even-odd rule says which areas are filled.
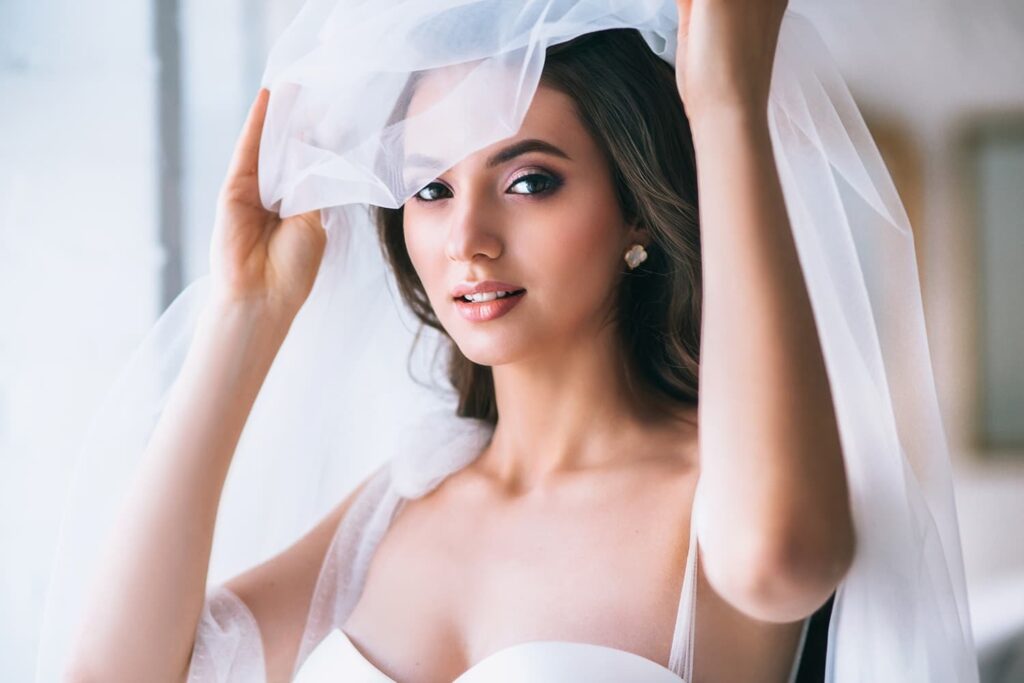
[[[585,34],[547,49],[541,84],[568,95],[601,148],[623,216],[650,236],[648,258],[624,270],[613,323],[628,389],[697,402],[700,231],[696,162],[675,70],[635,29]],[[373,207],[398,291],[423,326],[447,338],[458,415],[498,421],[489,366],[467,358],[437,319],[406,248],[402,208]]]

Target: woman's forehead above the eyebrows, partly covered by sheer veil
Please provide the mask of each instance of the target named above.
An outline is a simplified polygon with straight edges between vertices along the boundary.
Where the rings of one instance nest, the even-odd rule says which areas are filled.
[[[431,72],[417,83],[402,131],[404,176],[411,182],[433,177],[457,165],[483,166],[494,152],[518,139],[547,140],[570,156],[573,156],[571,148],[580,148],[589,141],[572,98],[543,83],[538,86],[522,124],[513,131],[508,119],[514,102],[502,100],[506,94],[515,93],[513,84],[481,90],[474,88],[478,76],[471,67],[460,65]],[[486,76],[509,78],[510,73]],[[480,140],[495,141],[480,147]]]

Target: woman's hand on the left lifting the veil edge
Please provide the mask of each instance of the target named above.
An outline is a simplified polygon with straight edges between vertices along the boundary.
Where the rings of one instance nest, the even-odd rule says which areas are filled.
[[[220,188],[210,270],[217,301],[294,316],[312,290],[327,232],[318,210],[282,220],[260,202],[257,162],[269,95],[260,88]]]

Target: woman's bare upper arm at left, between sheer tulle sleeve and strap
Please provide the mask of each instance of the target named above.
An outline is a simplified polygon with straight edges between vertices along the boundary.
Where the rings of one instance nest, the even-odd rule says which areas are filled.
[[[287,681],[292,675],[324,556],[367,481],[369,478],[294,544],[224,583],[256,618],[267,681]]]

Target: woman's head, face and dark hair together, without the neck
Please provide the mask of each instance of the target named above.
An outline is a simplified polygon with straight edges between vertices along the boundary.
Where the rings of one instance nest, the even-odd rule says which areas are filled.
[[[550,45],[518,129],[509,114],[521,103],[520,73],[507,67],[477,60],[410,79],[402,94],[412,98],[397,104],[391,121],[400,125],[384,140],[397,147],[382,146],[380,159],[400,170],[396,194],[408,201],[372,211],[406,306],[452,340],[443,350],[458,415],[497,424],[499,385],[516,382],[499,376],[517,375],[492,368],[527,359],[526,380],[554,386],[572,372],[608,375],[614,362],[626,371],[616,394],[695,404],[696,160],[671,65],[635,29]],[[467,147],[473,140],[499,141]],[[400,169],[392,152],[404,156]],[[635,243],[649,258],[628,270],[623,256]],[[455,301],[460,284],[487,280],[525,294],[501,316],[467,319],[460,307],[509,305]]]

